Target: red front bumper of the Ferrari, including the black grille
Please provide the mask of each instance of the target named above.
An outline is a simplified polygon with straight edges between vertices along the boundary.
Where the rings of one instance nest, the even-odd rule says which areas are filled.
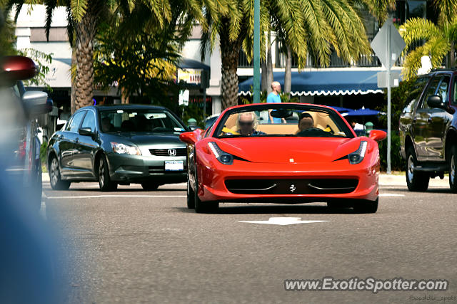
[[[199,167],[202,201],[277,202],[378,198],[379,164],[349,164],[347,159],[323,163],[262,164],[236,161],[233,165]]]

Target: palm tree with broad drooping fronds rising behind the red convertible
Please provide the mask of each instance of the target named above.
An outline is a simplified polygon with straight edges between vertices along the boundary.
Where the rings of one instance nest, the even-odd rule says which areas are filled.
[[[206,20],[209,27],[202,36],[201,51],[203,55],[208,42],[212,49],[219,35],[222,108],[228,108],[238,103],[236,68],[241,46],[248,58],[252,56],[253,0],[226,0],[224,5],[206,10]],[[329,65],[332,49],[347,61],[370,53],[355,1],[261,0],[261,33],[271,31],[271,20],[286,33],[286,45],[295,54],[299,68],[304,67],[308,53],[323,66]],[[261,47],[264,46],[265,35],[261,35]],[[264,49],[261,53],[265,53]]]

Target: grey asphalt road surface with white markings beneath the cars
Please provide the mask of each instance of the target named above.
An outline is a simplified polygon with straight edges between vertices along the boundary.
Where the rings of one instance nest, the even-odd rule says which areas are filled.
[[[381,187],[376,214],[326,204],[186,208],[185,184],[156,192],[96,183],[53,191],[41,214],[63,234],[68,303],[457,303],[457,194]],[[298,217],[287,226],[240,221]],[[446,279],[447,291],[286,291],[286,279]],[[423,300],[428,297],[428,300]]]

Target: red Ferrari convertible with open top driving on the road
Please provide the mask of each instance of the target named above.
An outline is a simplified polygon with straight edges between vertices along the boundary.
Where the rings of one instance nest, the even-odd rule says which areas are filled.
[[[301,204],[324,201],[356,212],[378,209],[379,150],[386,132],[356,137],[332,108],[261,103],[228,108],[187,144],[187,206],[219,202]]]

